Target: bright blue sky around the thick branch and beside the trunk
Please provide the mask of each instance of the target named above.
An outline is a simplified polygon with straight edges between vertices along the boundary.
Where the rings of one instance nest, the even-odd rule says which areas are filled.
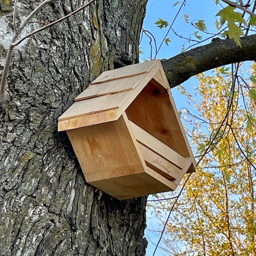
[[[157,41],[157,46],[159,47],[161,41],[163,40],[164,36],[166,35],[166,32],[168,28],[166,29],[159,29],[154,24],[159,18],[163,20],[167,20],[169,23],[172,23],[172,20],[174,19],[178,9],[180,8],[181,3],[177,4],[177,6],[173,7],[176,0],[149,0],[148,6],[147,6],[147,12],[146,17],[144,20],[143,28],[146,30],[149,30],[155,37]],[[182,0],[180,0],[182,2]],[[225,6],[225,5],[224,5]],[[214,0],[186,0],[186,6],[183,8],[177,17],[177,20],[175,21],[173,25],[173,29],[175,31],[186,37],[186,38],[194,38],[193,34],[197,30],[195,27],[191,25],[191,22],[194,20],[194,22],[197,22],[197,20],[205,20],[207,30],[210,33],[217,32],[217,29],[215,28],[215,15],[218,12],[220,7],[215,6]],[[185,22],[184,15],[189,15],[189,23]],[[198,32],[198,35],[204,36],[204,38],[207,37],[207,35],[204,35],[203,32]],[[174,35],[173,32],[170,32],[170,34],[167,36],[170,38],[171,42],[169,43],[169,46],[166,46],[163,44],[163,46],[160,48],[160,51],[157,55],[157,58],[171,58],[174,55],[177,55],[181,52],[182,45],[185,45],[186,47],[189,47],[189,42],[185,39],[178,38]],[[209,43],[205,42],[204,44]],[[143,51],[144,54],[140,55],[140,59],[143,61],[143,58],[150,59],[151,55],[151,49],[148,44],[148,38],[143,35],[143,40],[140,44],[140,49]],[[153,49],[153,52],[155,50]],[[154,58],[154,54],[153,54]],[[186,81],[183,84],[189,92],[192,92],[192,87],[197,85],[197,80],[195,78],[191,78],[188,81]],[[182,107],[187,107],[186,105],[186,99],[183,98],[180,93],[177,91],[177,88],[172,90],[177,108],[180,109]],[[148,209],[148,229],[145,231],[145,234],[148,238],[148,248],[147,248],[147,256],[151,256],[155,245],[158,241],[159,234],[151,232],[150,230],[159,229],[159,224],[157,222],[157,218],[151,215],[152,210]],[[169,255],[168,253],[164,252],[160,248],[157,249],[157,252],[155,254],[156,256],[164,256]]]

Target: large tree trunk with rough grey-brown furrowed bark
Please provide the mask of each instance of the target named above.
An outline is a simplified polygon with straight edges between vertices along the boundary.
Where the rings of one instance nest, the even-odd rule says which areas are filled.
[[[19,1],[17,22],[38,3]],[[49,4],[26,32],[83,3]],[[98,0],[16,48],[0,106],[1,255],[145,254],[146,198],[118,201],[87,184],[57,119],[102,71],[138,62],[146,3]],[[0,27],[1,65],[12,11],[0,11]]]

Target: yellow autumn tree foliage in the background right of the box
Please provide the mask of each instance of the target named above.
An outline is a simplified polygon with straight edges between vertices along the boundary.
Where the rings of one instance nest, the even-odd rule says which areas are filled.
[[[256,91],[249,78],[240,74],[241,81],[234,83],[228,71],[221,67],[213,75],[198,75],[194,89],[199,102],[180,86],[200,115],[183,110],[185,121],[193,127],[187,133],[198,155],[205,155],[168,222],[166,244],[172,244],[172,251],[179,245],[174,255],[251,256],[256,252],[256,169],[251,164],[256,159],[256,108],[250,100]],[[252,72],[256,73],[255,64]],[[166,201],[159,201],[158,207],[170,210]]]

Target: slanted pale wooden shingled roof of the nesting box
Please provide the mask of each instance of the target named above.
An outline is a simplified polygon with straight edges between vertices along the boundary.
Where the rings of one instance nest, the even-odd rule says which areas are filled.
[[[58,118],[58,130],[117,120],[151,79],[165,86],[167,81],[159,81],[160,67],[160,61],[153,60],[103,72]]]

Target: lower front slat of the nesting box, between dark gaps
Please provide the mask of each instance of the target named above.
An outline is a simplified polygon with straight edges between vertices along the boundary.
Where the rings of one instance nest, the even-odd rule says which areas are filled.
[[[139,147],[143,154],[146,165],[149,168],[153,169],[168,180],[175,180],[177,177],[179,177],[181,172],[179,168],[140,143]]]

